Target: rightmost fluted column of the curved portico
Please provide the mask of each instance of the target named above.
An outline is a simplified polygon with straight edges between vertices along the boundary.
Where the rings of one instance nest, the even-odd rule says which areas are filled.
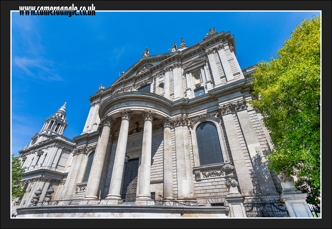
[[[171,124],[173,120],[166,117],[162,122],[164,125],[164,191],[163,196],[168,199],[173,197],[173,161],[171,143]]]

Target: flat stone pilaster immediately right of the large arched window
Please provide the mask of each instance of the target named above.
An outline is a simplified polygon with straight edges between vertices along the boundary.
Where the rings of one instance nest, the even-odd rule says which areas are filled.
[[[255,195],[254,187],[252,185],[252,181],[250,178],[249,170],[247,167],[246,160],[243,155],[242,147],[240,144],[239,137],[237,135],[237,130],[235,127],[235,123],[233,120],[233,115],[229,110],[225,107],[219,108],[222,110],[226,109],[225,114],[222,115],[222,121],[225,125],[225,130],[227,134],[228,144],[232,153],[234,166],[236,167],[236,174],[238,181],[240,183],[240,189],[242,195]],[[222,114],[223,112],[221,112]]]

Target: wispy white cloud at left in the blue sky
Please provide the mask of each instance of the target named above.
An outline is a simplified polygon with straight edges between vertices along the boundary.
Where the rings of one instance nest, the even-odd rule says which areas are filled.
[[[34,78],[46,81],[63,81],[58,75],[57,69],[52,68],[53,62],[45,58],[29,59],[16,56],[14,57],[14,64]]]

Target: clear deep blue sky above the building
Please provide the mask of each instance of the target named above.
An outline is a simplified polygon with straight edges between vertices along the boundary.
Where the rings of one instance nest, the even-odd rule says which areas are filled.
[[[12,12],[12,153],[30,143],[65,102],[64,136],[81,134],[89,96],[110,86],[142,56],[188,46],[210,28],[234,34],[246,68],[269,61],[302,19],[320,12],[96,12],[95,16],[20,16]]]

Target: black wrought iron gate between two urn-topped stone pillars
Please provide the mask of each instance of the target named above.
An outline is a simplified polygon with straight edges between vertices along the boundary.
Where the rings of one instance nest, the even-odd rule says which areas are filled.
[[[247,200],[243,203],[247,217],[290,217],[280,200]]]

